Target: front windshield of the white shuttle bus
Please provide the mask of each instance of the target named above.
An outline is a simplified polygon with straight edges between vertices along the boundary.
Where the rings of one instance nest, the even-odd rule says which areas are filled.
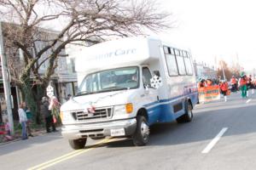
[[[139,87],[138,67],[124,67],[107,71],[98,71],[84,77],[79,93],[96,94]]]

